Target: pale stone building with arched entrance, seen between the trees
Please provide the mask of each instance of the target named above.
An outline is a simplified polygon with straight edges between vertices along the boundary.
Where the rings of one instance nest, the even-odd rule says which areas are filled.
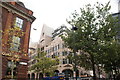
[[[72,51],[65,47],[64,41],[61,39],[61,35],[65,35],[65,30],[67,27],[65,25],[53,30],[48,26],[43,26],[38,48],[41,51],[46,52],[46,57],[58,57],[59,64],[58,68],[54,71],[55,73],[64,73],[67,77],[75,77],[75,71],[72,65],[72,61],[67,58],[69,54],[74,54]],[[49,30],[49,31],[48,31]],[[48,32],[47,32],[48,31]],[[33,76],[34,74],[34,76]],[[90,71],[86,71],[82,67],[78,67],[77,76],[80,77],[83,74],[91,74]],[[31,77],[39,78],[41,73],[36,74],[34,72],[29,73]]]

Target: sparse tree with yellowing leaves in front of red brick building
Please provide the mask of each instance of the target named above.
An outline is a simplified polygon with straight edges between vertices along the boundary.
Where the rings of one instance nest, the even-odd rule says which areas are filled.
[[[7,30],[1,31],[0,32],[3,34],[2,36],[2,56],[6,57],[8,60],[10,60],[10,65],[7,66],[7,71],[6,71],[6,76],[5,78],[16,78],[16,75],[14,74],[17,73],[16,71],[14,71],[14,69],[16,69],[18,62],[20,61],[21,55],[19,53],[22,53],[22,55],[27,55],[27,53],[22,50],[19,49],[18,47],[16,49],[14,49],[17,45],[14,44],[13,42],[13,36],[18,37],[18,38],[22,38],[24,36],[24,32],[23,30],[21,30],[18,26],[14,26],[11,27]],[[8,40],[5,42],[5,35],[8,36]],[[15,40],[14,40],[15,41]],[[9,74],[8,74],[9,73]]]

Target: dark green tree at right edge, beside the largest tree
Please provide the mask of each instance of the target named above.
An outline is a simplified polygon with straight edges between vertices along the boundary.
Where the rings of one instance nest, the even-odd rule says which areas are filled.
[[[104,64],[104,70],[111,76],[118,75],[120,73],[120,44],[117,40],[114,40],[105,46],[100,63]]]

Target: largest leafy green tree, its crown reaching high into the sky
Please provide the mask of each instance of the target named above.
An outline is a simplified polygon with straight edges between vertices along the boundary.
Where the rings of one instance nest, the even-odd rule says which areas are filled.
[[[94,80],[96,80],[95,68],[99,64],[99,57],[103,55],[107,45],[115,40],[115,36],[118,34],[119,26],[116,25],[116,19],[109,12],[111,8],[109,3],[103,5],[97,2],[94,7],[88,4],[85,8],[80,8],[80,14],[75,11],[68,22],[78,29],[66,31],[67,36],[62,37],[65,44],[74,52],[83,50],[88,54],[89,58],[84,55],[81,55],[81,58],[84,57],[91,62],[90,67],[93,70]]]

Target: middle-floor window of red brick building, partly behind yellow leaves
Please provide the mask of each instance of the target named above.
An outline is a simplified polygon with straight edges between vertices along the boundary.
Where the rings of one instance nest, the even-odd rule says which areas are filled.
[[[20,38],[13,36],[10,50],[18,51],[20,47]]]

